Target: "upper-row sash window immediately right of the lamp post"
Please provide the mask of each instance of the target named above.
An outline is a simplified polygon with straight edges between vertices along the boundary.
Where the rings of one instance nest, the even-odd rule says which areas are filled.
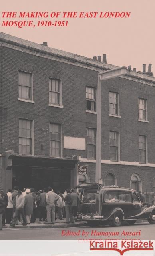
[[[109,114],[116,116],[119,115],[118,103],[118,93],[109,92]]]

